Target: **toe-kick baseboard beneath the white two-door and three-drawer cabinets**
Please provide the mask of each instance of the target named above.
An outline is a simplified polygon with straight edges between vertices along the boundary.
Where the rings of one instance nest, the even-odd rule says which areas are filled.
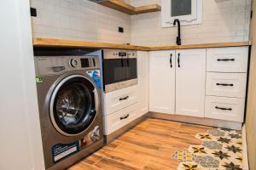
[[[195,117],[195,116],[180,116],[180,115],[170,115],[170,114],[163,114],[157,112],[149,112],[149,117],[159,118],[159,119],[166,119],[170,121],[176,122],[188,122],[198,125],[205,125],[210,127],[223,127],[223,128],[230,128],[235,130],[241,130],[241,122],[230,122],[230,121],[223,121],[217,119],[210,119],[204,117]]]

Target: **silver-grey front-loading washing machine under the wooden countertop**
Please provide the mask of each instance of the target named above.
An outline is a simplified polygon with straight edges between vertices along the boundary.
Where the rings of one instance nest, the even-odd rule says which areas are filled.
[[[99,58],[85,50],[34,50],[44,163],[70,167],[103,146]]]

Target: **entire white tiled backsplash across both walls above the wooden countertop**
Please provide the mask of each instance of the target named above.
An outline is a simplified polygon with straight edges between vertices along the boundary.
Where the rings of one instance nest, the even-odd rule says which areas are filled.
[[[160,0],[125,0],[135,6]],[[247,41],[251,0],[203,0],[203,23],[183,26],[184,44]],[[31,0],[33,37],[137,45],[174,45],[177,28],[162,28],[160,12],[128,15],[88,0]],[[118,26],[125,33],[118,32]]]

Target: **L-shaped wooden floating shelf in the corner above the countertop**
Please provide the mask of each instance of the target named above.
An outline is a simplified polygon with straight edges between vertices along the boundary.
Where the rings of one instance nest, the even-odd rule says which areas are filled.
[[[125,3],[125,1],[123,0],[102,1],[102,2],[99,2],[99,4],[108,8],[113,8],[122,13],[131,14],[131,15],[151,13],[151,12],[156,12],[161,10],[160,5],[158,4],[150,4],[150,5],[140,6],[140,7],[134,7],[129,3]]]

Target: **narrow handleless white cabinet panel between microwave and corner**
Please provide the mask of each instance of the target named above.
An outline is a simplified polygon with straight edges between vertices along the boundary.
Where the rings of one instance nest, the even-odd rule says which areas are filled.
[[[149,56],[148,52],[137,52],[137,98],[138,98],[138,116],[148,113],[148,71]]]

